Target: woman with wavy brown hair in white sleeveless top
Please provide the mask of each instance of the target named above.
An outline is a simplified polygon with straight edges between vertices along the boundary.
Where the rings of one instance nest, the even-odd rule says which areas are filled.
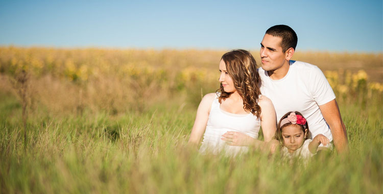
[[[219,68],[219,92],[202,99],[188,143],[198,146],[203,136],[200,152],[228,155],[265,147],[276,131],[276,116],[270,99],[260,94],[253,56],[233,50],[222,56]],[[260,126],[265,142],[257,140]]]

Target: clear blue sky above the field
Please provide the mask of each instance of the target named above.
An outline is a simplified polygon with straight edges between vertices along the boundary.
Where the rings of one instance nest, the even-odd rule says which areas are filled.
[[[1,1],[0,45],[259,49],[285,24],[297,50],[383,52],[382,0]]]

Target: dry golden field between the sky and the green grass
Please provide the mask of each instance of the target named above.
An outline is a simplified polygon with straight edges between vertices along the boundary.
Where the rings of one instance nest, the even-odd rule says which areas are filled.
[[[0,86],[14,92],[9,80],[24,69],[33,102],[58,113],[143,111],[175,96],[195,106],[199,96],[218,88],[225,52],[0,47]],[[259,64],[259,53],[252,54]],[[340,97],[355,96],[361,84],[369,95],[383,87],[382,54],[297,52],[293,59],[319,66]]]

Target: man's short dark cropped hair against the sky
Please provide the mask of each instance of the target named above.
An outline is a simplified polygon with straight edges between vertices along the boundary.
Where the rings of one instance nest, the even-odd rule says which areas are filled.
[[[266,34],[282,38],[281,47],[282,47],[283,53],[286,52],[289,48],[294,48],[295,50],[295,47],[297,46],[297,43],[298,43],[297,34],[289,26],[286,26],[286,25],[273,26],[266,31]]]

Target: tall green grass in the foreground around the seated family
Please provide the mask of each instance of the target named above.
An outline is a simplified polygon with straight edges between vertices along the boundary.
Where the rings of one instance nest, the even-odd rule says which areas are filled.
[[[350,153],[306,166],[256,150],[228,158],[185,146],[196,108],[182,99],[124,114],[29,113],[23,149],[21,106],[0,92],[1,193],[381,193],[381,96],[368,108],[340,104]]]

